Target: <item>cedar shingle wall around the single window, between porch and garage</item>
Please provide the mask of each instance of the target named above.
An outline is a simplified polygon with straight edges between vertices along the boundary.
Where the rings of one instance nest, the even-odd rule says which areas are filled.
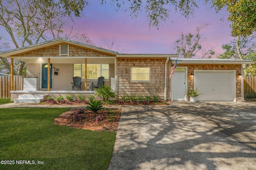
[[[160,99],[164,99],[164,64],[166,58],[146,59],[146,58],[118,58],[117,75],[118,75],[118,97],[134,96],[150,96],[158,95]],[[150,67],[151,82],[130,82],[131,67]],[[167,64],[168,67],[168,64]],[[167,69],[169,72],[169,69]],[[167,76],[168,78],[168,76]],[[169,79],[168,79],[169,80]],[[167,87],[169,81],[167,80]],[[167,94],[169,91],[167,91]]]

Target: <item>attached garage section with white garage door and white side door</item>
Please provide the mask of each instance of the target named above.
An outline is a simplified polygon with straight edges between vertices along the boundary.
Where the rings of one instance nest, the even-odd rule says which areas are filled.
[[[172,70],[176,59],[170,59]],[[254,61],[234,59],[177,59],[176,69],[170,78],[171,101],[190,101],[190,88],[203,93],[197,101],[243,102],[243,72]],[[243,68],[243,65],[246,67]],[[180,74],[185,69],[184,74]],[[184,80],[185,79],[185,80]]]

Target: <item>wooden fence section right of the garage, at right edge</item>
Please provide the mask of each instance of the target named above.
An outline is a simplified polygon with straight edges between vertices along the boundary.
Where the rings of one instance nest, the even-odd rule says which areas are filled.
[[[244,76],[244,98],[256,98],[255,76]]]

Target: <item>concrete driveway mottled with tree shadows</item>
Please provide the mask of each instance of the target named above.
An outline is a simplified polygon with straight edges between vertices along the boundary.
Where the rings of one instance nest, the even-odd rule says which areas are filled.
[[[256,103],[122,109],[109,170],[256,169]]]

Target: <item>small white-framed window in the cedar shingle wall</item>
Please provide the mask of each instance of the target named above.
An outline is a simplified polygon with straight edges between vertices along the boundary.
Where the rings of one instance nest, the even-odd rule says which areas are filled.
[[[131,67],[131,82],[150,82],[150,67]]]

